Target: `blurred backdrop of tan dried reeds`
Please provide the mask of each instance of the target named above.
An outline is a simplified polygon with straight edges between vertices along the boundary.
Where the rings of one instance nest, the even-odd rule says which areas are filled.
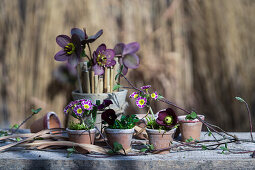
[[[25,127],[50,110],[64,119],[76,86],[58,77],[64,69],[54,60],[55,38],[85,27],[89,35],[104,30],[94,50],[101,43],[140,43],[140,67],[128,73],[136,86],[150,84],[225,130],[248,131],[245,105],[234,97],[248,102],[254,123],[254,18],[254,0],[1,0],[0,127],[38,107],[42,112]],[[166,107],[153,104],[154,111]],[[132,100],[127,113],[145,110]]]

